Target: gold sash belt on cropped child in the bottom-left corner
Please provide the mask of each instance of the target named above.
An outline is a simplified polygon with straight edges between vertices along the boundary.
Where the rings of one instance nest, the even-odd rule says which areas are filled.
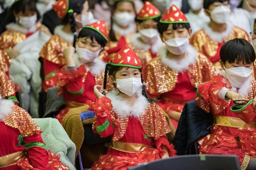
[[[15,165],[18,160],[24,159],[25,156],[26,155],[24,151],[14,152],[8,155],[1,156],[0,168]]]

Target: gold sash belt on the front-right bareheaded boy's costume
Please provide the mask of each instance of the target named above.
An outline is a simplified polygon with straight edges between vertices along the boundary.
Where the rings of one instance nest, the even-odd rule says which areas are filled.
[[[213,117],[213,124],[218,126],[227,126],[232,128],[256,128],[256,123],[247,124],[242,119],[229,116],[215,116]]]

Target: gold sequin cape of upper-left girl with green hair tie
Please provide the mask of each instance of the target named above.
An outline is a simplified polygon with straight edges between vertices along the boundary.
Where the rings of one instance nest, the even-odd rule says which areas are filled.
[[[40,57],[61,66],[66,64],[64,57],[59,56],[63,53],[63,50],[67,47],[71,47],[72,44],[65,41],[58,34],[54,34],[49,41],[47,41],[40,52]]]

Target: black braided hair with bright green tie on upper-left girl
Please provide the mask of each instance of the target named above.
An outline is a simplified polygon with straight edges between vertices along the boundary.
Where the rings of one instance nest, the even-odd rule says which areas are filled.
[[[81,14],[85,1],[87,1],[87,0],[70,0],[68,12],[67,12],[66,16],[62,19],[62,24],[63,25],[69,24],[71,31],[74,34],[74,42],[73,42],[74,47],[76,44],[76,35],[77,35],[74,12],[76,12],[77,14]]]

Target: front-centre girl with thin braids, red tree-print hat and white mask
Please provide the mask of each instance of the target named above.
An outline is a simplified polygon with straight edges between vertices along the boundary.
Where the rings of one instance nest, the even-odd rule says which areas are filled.
[[[166,137],[171,129],[165,113],[148,97],[141,66],[139,57],[124,46],[106,65],[103,87],[94,86],[97,99],[86,101],[88,110],[96,115],[93,131],[101,137],[112,137],[108,153],[100,155],[92,170],[126,169],[175,156],[174,146]],[[115,90],[104,96],[107,74]]]

